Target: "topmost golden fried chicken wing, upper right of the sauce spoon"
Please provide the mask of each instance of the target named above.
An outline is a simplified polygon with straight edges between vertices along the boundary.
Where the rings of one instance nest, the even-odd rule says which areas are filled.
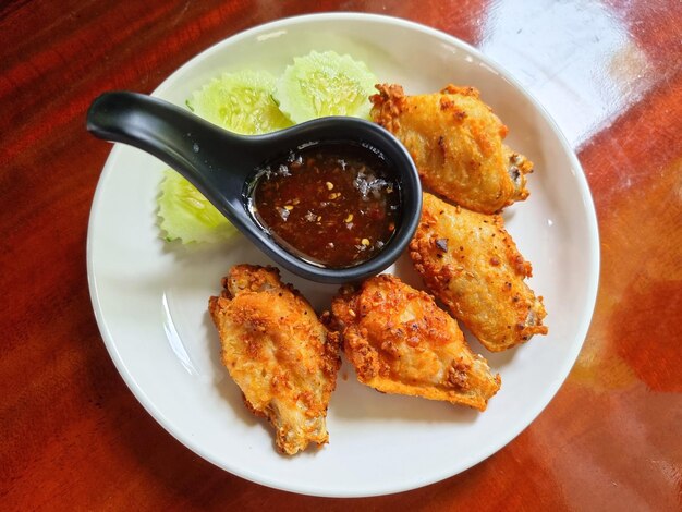
[[[376,87],[372,119],[405,145],[424,186],[483,214],[528,196],[525,174],[533,163],[502,144],[507,126],[478,90],[448,85],[406,96],[400,85]]]

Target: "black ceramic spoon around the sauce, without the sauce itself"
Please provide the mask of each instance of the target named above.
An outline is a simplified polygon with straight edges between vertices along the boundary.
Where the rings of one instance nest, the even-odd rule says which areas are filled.
[[[321,118],[266,135],[222,130],[172,103],[136,93],[99,96],[87,112],[96,137],[135,146],[159,158],[196,186],[232,224],[288,270],[317,282],[342,283],[375,275],[403,252],[417,227],[422,186],[412,158],[381,126],[356,118]],[[310,142],[356,142],[379,149],[401,190],[395,233],[372,259],[348,268],[306,261],[272,240],[247,208],[247,188],[267,160]]]

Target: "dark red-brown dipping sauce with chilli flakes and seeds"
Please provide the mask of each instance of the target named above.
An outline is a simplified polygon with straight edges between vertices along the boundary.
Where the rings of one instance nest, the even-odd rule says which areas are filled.
[[[368,260],[393,235],[400,191],[376,149],[315,143],[258,169],[254,217],[309,263],[345,268]]]

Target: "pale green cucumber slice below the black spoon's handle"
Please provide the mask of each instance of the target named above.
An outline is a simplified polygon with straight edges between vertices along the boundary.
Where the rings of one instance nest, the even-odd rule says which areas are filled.
[[[238,233],[192,183],[171,169],[163,171],[158,205],[159,227],[168,242],[219,242]]]

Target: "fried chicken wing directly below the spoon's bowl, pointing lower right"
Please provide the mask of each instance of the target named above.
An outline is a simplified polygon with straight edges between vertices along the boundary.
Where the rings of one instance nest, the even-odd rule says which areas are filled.
[[[500,377],[471,352],[456,321],[429,294],[393,276],[342,288],[330,325],[341,332],[357,379],[381,392],[484,411],[500,388]]]

